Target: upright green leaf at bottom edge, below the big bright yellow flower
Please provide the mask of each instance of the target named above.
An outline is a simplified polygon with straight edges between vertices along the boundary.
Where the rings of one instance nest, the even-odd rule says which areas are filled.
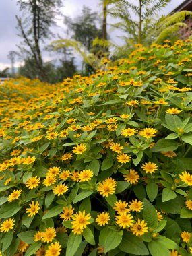
[[[67,243],[66,256],[75,255],[80,243],[82,242],[82,234],[74,234],[71,232]]]

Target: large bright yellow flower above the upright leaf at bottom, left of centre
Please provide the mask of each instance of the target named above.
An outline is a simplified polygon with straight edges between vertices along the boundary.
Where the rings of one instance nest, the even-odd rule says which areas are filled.
[[[85,210],[83,210],[83,212],[79,211],[79,213],[74,214],[71,221],[71,224],[73,224],[73,230],[83,230],[86,228],[86,226],[90,224],[88,221],[90,218],[90,214],[86,214]]]

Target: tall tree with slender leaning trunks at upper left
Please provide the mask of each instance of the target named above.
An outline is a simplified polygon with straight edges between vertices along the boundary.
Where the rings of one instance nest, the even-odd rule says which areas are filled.
[[[28,53],[28,58],[33,60],[40,79],[46,79],[41,45],[46,38],[53,35],[50,28],[55,24],[57,8],[61,3],[61,0],[18,0],[22,18],[16,18],[20,36],[24,39],[24,49],[20,49]]]

